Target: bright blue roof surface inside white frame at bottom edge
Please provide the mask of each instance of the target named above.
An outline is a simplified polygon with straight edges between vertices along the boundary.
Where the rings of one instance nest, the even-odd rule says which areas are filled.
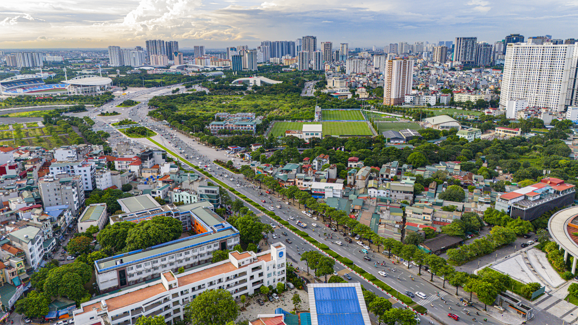
[[[319,325],[364,324],[355,287],[316,287],[313,293]]]

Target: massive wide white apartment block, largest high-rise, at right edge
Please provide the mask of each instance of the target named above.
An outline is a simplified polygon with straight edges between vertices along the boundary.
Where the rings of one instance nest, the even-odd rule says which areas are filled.
[[[565,105],[575,106],[577,52],[573,44],[507,44],[500,108],[506,109],[506,101],[513,98],[525,98],[528,106],[557,112]]]

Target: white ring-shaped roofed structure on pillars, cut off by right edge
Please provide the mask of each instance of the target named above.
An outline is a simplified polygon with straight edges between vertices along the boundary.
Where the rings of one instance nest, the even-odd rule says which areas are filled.
[[[554,213],[548,220],[548,231],[560,248],[564,249],[564,261],[568,254],[574,257],[572,261],[572,273],[576,272],[578,260],[578,206],[567,208]]]

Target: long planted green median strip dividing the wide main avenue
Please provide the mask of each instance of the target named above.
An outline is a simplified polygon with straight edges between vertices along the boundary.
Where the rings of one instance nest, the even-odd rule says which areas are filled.
[[[419,311],[416,311],[416,309],[411,308],[409,305],[413,305],[414,302],[411,298],[406,297],[405,295],[401,294],[399,291],[392,289],[391,286],[387,285],[385,282],[377,279],[375,277],[375,275],[370,274],[369,272],[366,272],[364,269],[362,269],[361,267],[358,267],[357,265],[355,265],[353,263],[353,261],[351,261],[349,258],[340,256],[338,253],[334,252],[334,250],[331,250],[328,248],[327,245],[320,243],[318,241],[316,241],[314,238],[310,237],[309,234],[307,234],[304,231],[300,231],[298,228],[291,226],[291,224],[289,223],[289,221],[283,220],[281,217],[275,215],[275,213],[263,208],[260,204],[258,204],[257,202],[251,200],[250,198],[247,198],[246,195],[243,195],[241,193],[239,193],[239,191],[236,191],[235,189],[233,189],[231,186],[228,186],[227,184],[221,182],[220,180],[214,178],[210,173],[203,171],[200,167],[198,167],[197,165],[192,164],[191,162],[185,160],[183,157],[180,157],[179,155],[173,153],[171,150],[166,149],[166,147],[162,146],[160,143],[154,141],[153,139],[146,138],[147,140],[149,140],[150,142],[153,142],[155,145],[159,146],[161,149],[164,149],[166,152],[171,153],[171,155],[175,158],[182,158],[183,161],[189,165],[190,167],[193,167],[195,169],[197,169],[197,171],[201,172],[203,175],[207,176],[208,178],[210,178],[211,180],[213,180],[214,182],[220,184],[221,186],[223,186],[225,189],[229,190],[233,195],[235,195],[236,197],[238,197],[241,201],[245,202],[248,205],[254,206],[255,208],[257,208],[258,210],[260,210],[261,212],[264,212],[264,214],[266,216],[269,217],[269,219],[275,220],[277,221],[277,223],[282,224],[284,226],[286,226],[285,228],[290,231],[292,234],[294,234],[295,236],[303,239],[303,241],[309,242],[310,245],[312,245],[314,248],[317,248],[318,250],[320,250],[321,252],[323,252],[325,255],[333,258],[337,263],[339,263],[340,265],[342,265],[344,268],[347,268],[350,270],[350,272],[353,272],[355,274],[357,274],[360,278],[366,280],[368,283],[370,283],[372,286],[376,287],[377,289],[383,291],[383,293],[386,293],[388,296],[390,296],[392,299],[395,299],[397,302],[399,302],[400,304],[402,304],[403,306],[406,306],[407,308],[411,309],[412,311],[414,311],[415,313],[418,313],[420,315],[425,315],[427,313],[427,308],[425,308],[424,306],[420,306],[417,305],[415,308],[419,309]],[[305,236],[302,236],[301,234],[299,234],[298,232],[302,232],[303,234],[305,234]],[[304,237],[309,237],[310,240],[304,238]],[[318,243],[319,245],[315,245],[315,243]],[[322,246],[323,245],[323,248]],[[348,265],[346,265],[345,263],[343,263],[342,261],[345,261],[347,264],[351,264],[351,267],[349,267]],[[351,262],[351,263],[349,263]],[[358,271],[362,271],[357,272],[354,271],[354,268],[357,268]],[[391,292],[391,293],[390,293]],[[394,296],[395,295],[395,296]],[[409,302],[409,301],[411,302]],[[421,307],[421,308],[420,308]],[[423,309],[422,309],[423,308]]]

